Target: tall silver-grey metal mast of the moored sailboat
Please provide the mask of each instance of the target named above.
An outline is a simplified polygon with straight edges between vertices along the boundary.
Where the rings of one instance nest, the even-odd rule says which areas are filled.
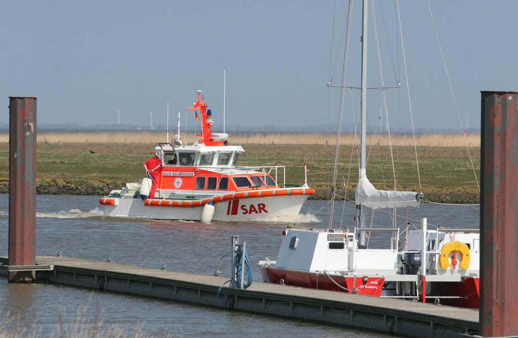
[[[360,163],[359,179],[367,175],[367,19],[368,1],[363,1],[362,19],[362,89],[361,89],[361,124],[360,124]],[[365,227],[365,208],[360,205],[360,227]],[[363,237],[363,236],[362,236]]]

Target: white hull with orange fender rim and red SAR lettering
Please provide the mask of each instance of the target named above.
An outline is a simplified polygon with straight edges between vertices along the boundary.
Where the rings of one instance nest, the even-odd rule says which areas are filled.
[[[311,188],[296,188],[255,190],[202,200],[142,201],[139,198],[104,197],[99,203],[103,205],[104,216],[200,221],[205,204],[212,200],[214,214],[211,220],[232,222],[297,215],[313,193]]]

